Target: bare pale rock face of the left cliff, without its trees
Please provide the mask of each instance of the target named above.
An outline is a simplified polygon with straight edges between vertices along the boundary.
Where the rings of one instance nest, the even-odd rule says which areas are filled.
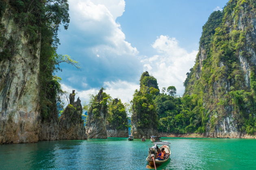
[[[5,9],[0,17],[0,143],[39,140],[39,33],[37,37],[33,47]]]

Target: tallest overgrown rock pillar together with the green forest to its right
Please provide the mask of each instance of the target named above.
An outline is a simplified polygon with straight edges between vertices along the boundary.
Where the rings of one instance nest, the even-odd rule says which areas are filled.
[[[188,133],[202,132],[202,117],[198,112],[203,108],[197,95],[176,96],[176,87],[169,86],[159,92],[157,80],[143,72],[140,90],[132,100],[132,123],[137,128],[155,128],[159,132]]]

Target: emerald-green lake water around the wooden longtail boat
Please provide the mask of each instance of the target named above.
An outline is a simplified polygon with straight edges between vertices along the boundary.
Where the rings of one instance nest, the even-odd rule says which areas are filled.
[[[256,140],[161,138],[171,160],[158,169],[256,169]],[[56,140],[0,145],[0,169],[146,169],[150,140]]]

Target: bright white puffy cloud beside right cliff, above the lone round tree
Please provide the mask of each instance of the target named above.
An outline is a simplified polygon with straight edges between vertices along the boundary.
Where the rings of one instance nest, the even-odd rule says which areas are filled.
[[[186,73],[193,67],[198,51],[188,52],[178,45],[176,38],[163,35],[155,40],[152,47],[158,54],[141,60],[144,71],[150,70],[149,73],[157,79],[160,89],[174,85],[177,94],[182,96]]]

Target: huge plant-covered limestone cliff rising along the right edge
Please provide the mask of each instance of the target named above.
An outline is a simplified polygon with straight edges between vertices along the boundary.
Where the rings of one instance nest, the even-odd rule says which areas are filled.
[[[230,0],[203,27],[195,66],[184,82],[205,108],[209,137],[240,138],[255,132],[256,4]],[[199,113],[200,115],[200,113]]]

